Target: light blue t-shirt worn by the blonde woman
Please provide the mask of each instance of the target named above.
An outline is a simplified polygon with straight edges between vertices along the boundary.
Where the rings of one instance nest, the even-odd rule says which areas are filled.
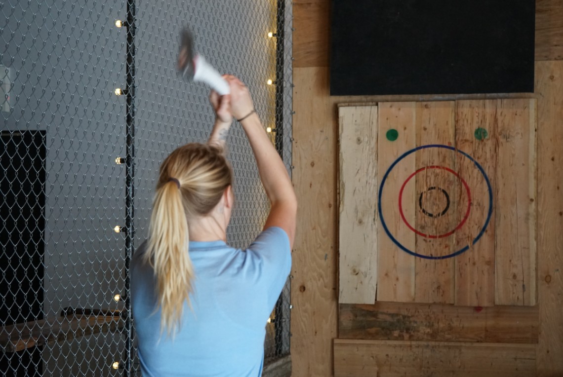
[[[184,303],[175,338],[160,334],[153,269],[131,261],[131,305],[144,377],[257,377],[262,374],[266,322],[291,270],[282,228],[263,231],[247,250],[224,241],[190,242],[193,309]]]

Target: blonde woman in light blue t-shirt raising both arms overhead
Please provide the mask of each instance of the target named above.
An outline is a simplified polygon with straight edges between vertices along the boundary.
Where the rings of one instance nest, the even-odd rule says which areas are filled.
[[[149,238],[131,263],[131,303],[144,376],[260,376],[265,326],[291,268],[297,200],[248,89],[225,76],[212,92],[207,144],[179,147],[160,167]],[[235,117],[248,137],[271,209],[246,250],[226,228],[234,196],[225,139]]]

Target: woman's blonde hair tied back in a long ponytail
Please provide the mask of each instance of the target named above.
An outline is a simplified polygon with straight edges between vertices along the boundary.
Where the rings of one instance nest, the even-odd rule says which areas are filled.
[[[211,212],[232,181],[231,167],[216,146],[187,144],[160,166],[144,258],[154,268],[162,313],[160,330],[166,327],[168,335],[181,325],[184,300],[190,304],[193,291],[187,218]]]

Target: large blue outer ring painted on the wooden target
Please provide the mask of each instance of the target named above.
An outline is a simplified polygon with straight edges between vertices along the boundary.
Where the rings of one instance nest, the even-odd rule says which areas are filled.
[[[401,250],[403,250],[406,253],[409,253],[410,255],[414,255],[415,257],[419,257],[419,258],[424,258],[424,259],[446,259],[446,258],[452,258],[455,257],[456,255],[459,255],[463,252],[466,252],[469,249],[469,245],[464,246],[464,248],[461,248],[459,250],[456,250],[455,252],[451,253],[451,254],[447,254],[447,255],[439,255],[437,257],[432,257],[431,255],[424,255],[424,254],[419,254],[414,252],[413,250],[410,250],[408,248],[406,248],[403,244],[401,244],[389,231],[389,229],[387,228],[387,224],[385,223],[385,218],[383,217],[383,212],[381,210],[381,196],[383,194],[383,187],[385,186],[385,182],[387,181],[387,177],[389,176],[389,173],[391,172],[391,170],[393,170],[393,168],[395,168],[395,166],[401,161],[403,160],[406,156],[413,154],[414,152],[418,151],[418,150],[422,150],[422,149],[427,149],[427,148],[443,148],[443,149],[449,149],[452,150],[454,152],[457,152],[459,154],[462,154],[464,157],[468,158],[471,160],[471,162],[473,164],[475,164],[475,167],[477,167],[477,169],[479,169],[479,171],[481,172],[482,176],[485,178],[485,182],[487,183],[487,188],[489,189],[489,211],[487,213],[487,218],[485,220],[485,223],[483,225],[483,227],[481,228],[479,234],[477,234],[477,236],[475,237],[475,239],[473,239],[473,243],[475,244],[477,241],[479,241],[479,239],[482,237],[482,235],[485,233],[485,230],[487,228],[487,226],[489,225],[491,216],[493,214],[493,188],[491,187],[491,183],[489,181],[489,177],[487,176],[487,174],[485,173],[485,170],[481,167],[481,165],[474,159],[472,158],[470,155],[468,155],[466,152],[463,152],[459,149],[455,149],[454,147],[450,147],[449,145],[441,145],[441,144],[429,144],[429,145],[421,145],[419,147],[416,147],[414,149],[411,149],[409,151],[404,152],[402,155],[399,156],[399,158],[397,158],[394,163],[391,164],[391,166],[387,169],[387,172],[385,172],[385,175],[383,176],[383,179],[381,180],[381,185],[379,186],[379,192],[377,195],[377,209],[379,212],[379,219],[381,221],[381,225],[383,225],[383,229],[385,229],[385,232],[387,233],[387,235],[389,236],[389,238],[391,239],[391,241],[393,241],[393,243],[397,246],[399,246],[399,248]]]

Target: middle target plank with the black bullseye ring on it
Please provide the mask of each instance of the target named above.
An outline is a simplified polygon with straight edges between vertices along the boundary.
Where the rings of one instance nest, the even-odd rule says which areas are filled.
[[[418,102],[416,113],[417,146],[455,143],[455,102]],[[448,234],[457,223],[458,179],[445,169],[455,169],[455,153],[441,148],[419,150],[415,170],[426,168],[414,176],[417,208],[415,229],[427,236],[416,236],[417,254],[440,257],[453,253],[454,234]],[[454,302],[454,260],[415,259],[415,302]]]

